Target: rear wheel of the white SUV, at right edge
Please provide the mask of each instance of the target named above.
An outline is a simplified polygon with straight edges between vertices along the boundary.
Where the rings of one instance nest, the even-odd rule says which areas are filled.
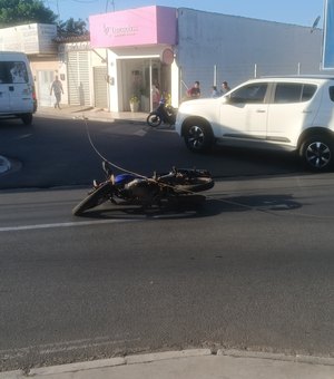
[[[313,172],[325,172],[333,167],[333,142],[327,136],[311,136],[303,142],[299,155]]]

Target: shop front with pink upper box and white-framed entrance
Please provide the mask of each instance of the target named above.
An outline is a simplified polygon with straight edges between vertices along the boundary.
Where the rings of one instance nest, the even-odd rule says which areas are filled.
[[[109,109],[153,108],[153,88],[171,94],[174,50],[177,42],[177,10],[145,7],[91,16],[91,47],[106,48]]]

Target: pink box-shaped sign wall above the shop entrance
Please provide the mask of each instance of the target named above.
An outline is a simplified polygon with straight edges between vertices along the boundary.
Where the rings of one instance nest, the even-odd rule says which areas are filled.
[[[94,48],[176,45],[176,9],[145,7],[89,17]]]

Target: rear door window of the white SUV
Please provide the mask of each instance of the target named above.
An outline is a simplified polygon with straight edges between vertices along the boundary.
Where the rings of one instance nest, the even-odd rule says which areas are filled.
[[[308,101],[315,94],[315,85],[278,82],[276,85],[274,103],[286,104]]]

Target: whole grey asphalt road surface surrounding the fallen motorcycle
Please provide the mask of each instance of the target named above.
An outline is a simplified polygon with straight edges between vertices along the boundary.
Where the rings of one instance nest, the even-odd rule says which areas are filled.
[[[173,130],[91,123],[134,171],[210,169],[198,211],[71,216],[100,159],[78,120],[0,127],[0,369],[219,347],[334,353],[333,173],[283,153],[186,150]],[[119,162],[118,162],[119,161]]]

